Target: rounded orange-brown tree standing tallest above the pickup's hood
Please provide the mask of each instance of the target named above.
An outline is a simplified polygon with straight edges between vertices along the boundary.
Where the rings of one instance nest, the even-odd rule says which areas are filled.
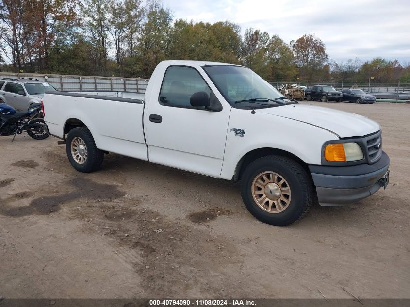
[[[325,44],[313,34],[305,34],[290,43],[301,74],[311,78],[313,73],[323,67],[328,60]]]

